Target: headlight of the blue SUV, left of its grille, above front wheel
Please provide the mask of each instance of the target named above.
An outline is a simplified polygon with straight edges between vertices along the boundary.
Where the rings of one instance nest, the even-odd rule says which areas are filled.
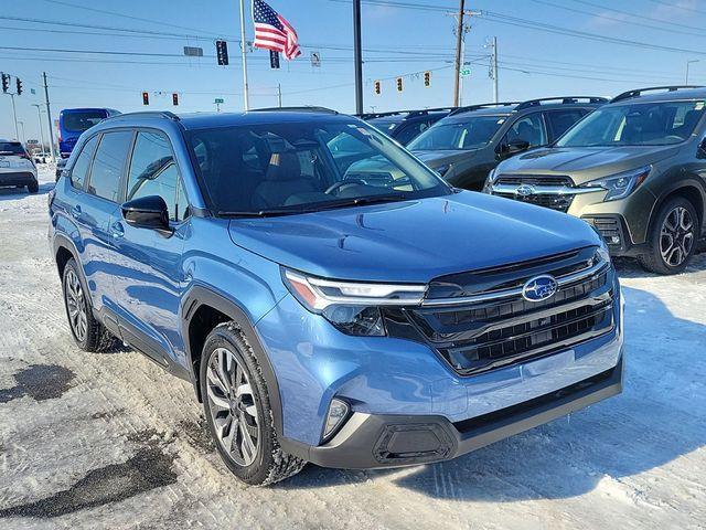
[[[382,306],[421,304],[426,286],[339,282],[282,269],[289,292],[311,312],[322,315],[336,329],[354,336],[381,337]]]

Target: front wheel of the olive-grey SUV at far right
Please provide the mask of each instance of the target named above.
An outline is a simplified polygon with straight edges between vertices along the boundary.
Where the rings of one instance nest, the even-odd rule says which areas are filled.
[[[667,200],[652,223],[648,252],[638,257],[645,271],[668,275],[683,272],[696,250],[698,215],[683,197]]]

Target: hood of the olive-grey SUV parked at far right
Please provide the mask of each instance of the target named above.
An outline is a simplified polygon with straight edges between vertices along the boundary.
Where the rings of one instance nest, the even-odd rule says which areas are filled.
[[[545,148],[510,158],[501,173],[569,174],[577,183],[656,163],[675,156],[681,146]]]

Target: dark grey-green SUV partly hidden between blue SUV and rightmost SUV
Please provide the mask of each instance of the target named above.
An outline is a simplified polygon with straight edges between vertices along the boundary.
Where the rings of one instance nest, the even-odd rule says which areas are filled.
[[[407,149],[450,184],[480,191],[488,172],[500,161],[552,144],[607,102],[595,96],[565,96],[462,107],[418,136]]]

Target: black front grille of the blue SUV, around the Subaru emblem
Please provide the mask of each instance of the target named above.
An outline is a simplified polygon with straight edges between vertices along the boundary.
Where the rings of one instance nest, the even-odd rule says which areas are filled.
[[[614,272],[610,265],[602,268],[591,266],[590,275],[565,283],[553,297],[539,303],[527,301],[521,294],[499,295],[496,298],[492,298],[492,294],[496,285],[524,284],[537,274],[538,268],[550,273],[576,271],[581,264],[586,267],[590,265],[586,259],[590,252],[595,253],[595,248],[563,255],[556,263],[528,265],[525,269],[513,266],[495,273],[458,275],[452,279],[457,284],[466,284],[466,297],[459,297],[456,303],[453,297],[445,297],[439,306],[427,304],[406,309],[404,314],[424,340],[461,375],[472,375],[570,348],[614,328]],[[495,280],[489,275],[496,276]],[[514,279],[507,280],[509,275]],[[450,279],[439,278],[436,285],[453,284]],[[429,289],[432,296],[435,293],[448,295],[442,288],[435,290],[434,285]],[[478,298],[479,289],[483,295],[482,301],[464,301],[469,292]],[[489,293],[491,297],[485,299]]]

